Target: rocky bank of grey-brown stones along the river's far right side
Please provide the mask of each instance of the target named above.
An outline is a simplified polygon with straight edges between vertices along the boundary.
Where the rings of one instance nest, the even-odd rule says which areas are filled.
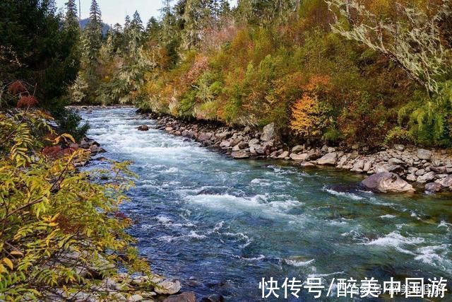
[[[369,152],[365,146],[287,146],[274,124],[263,129],[235,129],[206,122],[186,122],[152,115],[159,129],[220,149],[232,158],[271,158],[294,161],[302,167],[328,165],[363,175],[374,175],[364,186],[379,192],[451,192],[452,156],[448,150],[427,150],[396,144]],[[146,131],[147,125],[139,130]],[[374,182],[369,186],[370,182]]]

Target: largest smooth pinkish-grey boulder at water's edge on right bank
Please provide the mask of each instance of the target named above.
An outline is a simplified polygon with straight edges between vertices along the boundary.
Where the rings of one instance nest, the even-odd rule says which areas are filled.
[[[361,184],[374,192],[415,192],[412,185],[395,173],[377,173],[363,180]]]

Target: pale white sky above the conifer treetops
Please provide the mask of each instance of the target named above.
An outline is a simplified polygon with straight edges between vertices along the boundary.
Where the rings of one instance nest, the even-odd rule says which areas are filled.
[[[78,0],[76,1],[78,6]],[[80,1],[82,19],[88,18],[91,0]],[[236,1],[230,2],[234,4]],[[66,2],[67,0],[56,0],[59,8],[64,8]],[[162,0],[97,0],[97,4],[102,11],[102,20],[109,25],[123,24],[126,14],[132,16],[135,11],[140,13],[143,23],[147,23],[150,17],[160,16],[159,9],[162,7]]]

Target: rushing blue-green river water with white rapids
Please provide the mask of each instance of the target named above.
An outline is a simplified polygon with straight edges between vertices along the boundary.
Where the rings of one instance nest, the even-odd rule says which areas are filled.
[[[130,233],[153,271],[182,279],[184,291],[260,301],[263,277],[452,282],[450,196],[372,194],[359,190],[359,175],[234,161],[133,108],[81,113],[102,156],[134,162],[139,179],[122,207],[136,221]]]

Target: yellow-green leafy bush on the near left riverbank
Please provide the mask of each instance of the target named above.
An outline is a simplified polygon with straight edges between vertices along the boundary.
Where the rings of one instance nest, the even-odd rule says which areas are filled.
[[[110,264],[149,273],[125,232],[131,220],[115,215],[131,186],[128,163],[80,173],[76,165],[89,154],[67,148],[73,138],[57,135],[47,121],[35,110],[0,113],[2,301],[42,299],[59,289],[68,297],[90,293],[97,281],[89,267],[103,276],[117,274]],[[90,181],[105,173],[110,182]]]

